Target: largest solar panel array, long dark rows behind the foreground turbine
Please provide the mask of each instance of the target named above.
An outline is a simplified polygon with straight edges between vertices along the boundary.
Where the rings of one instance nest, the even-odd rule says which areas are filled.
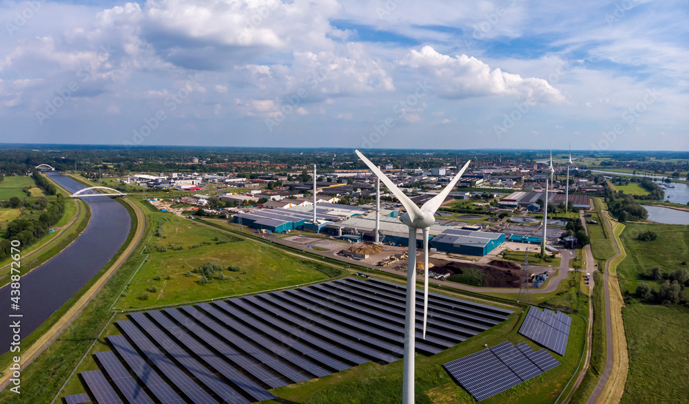
[[[401,359],[405,299],[404,286],[348,278],[136,312],[116,322],[122,334],[107,337],[112,352],[94,354],[103,373],[81,375],[94,403],[267,401],[275,398],[271,388]],[[512,313],[431,293],[423,339],[422,293],[415,310],[416,350],[424,354],[442,352]]]

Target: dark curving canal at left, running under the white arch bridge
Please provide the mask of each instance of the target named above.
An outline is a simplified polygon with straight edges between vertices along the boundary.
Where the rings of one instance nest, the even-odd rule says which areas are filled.
[[[48,173],[48,176],[72,193],[85,188],[59,173]],[[28,336],[87,284],[127,240],[131,220],[124,206],[107,196],[84,200],[91,209],[91,221],[72,244],[21,277],[20,310],[10,309],[10,285],[0,289],[1,353],[10,350],[12,342],[8,315],[23,316],[12,321],[21,321],[22,339]]]

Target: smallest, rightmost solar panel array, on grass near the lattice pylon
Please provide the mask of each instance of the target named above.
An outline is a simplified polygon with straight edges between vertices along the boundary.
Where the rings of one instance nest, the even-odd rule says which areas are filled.
[[[519,333],[549,350],[564,355],[571,324],[572,319],[562,312],[539,310],[531,306]]]

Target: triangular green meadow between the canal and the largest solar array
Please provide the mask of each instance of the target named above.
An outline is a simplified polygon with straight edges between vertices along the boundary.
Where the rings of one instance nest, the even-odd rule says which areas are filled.
[[[118,310],[241,295],[329,278],[326,275],[329,267],[325,264],[294,257],[265,244],[242,240],[171,213],[156,212],[152,215],[156,226],[163,220],[164,238],[154,235],[150,240],[150,257],[118,301]],[[227,243],[216,244],[216,237],[227,240]],[[194,245],[198,247],[190,248]],[[167,251],[158,252],[158,247],[165,247]],[[175,251],[174,248],[183,249]],[[201,275],[193,271],[205,262],[213,262],[223,268],[236,265],[240,271],[223,270],[224,279],[216,278],[209,284],[200,284]],[[190,276],[187,276],[187,271],[191,272]],[[143,296],[147,297],[142,299]]]

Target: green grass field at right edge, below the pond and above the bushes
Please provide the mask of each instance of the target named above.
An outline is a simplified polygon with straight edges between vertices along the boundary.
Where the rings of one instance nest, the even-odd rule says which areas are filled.
[[[642,242],[639,233],[655,231],[657,240]],[[682,266],[689,259],[689,227],[679,224],[627,223],[620,235],[627,258],[619,264],[617,271],[622,293],[634,293],[641,281],[654,290],[661,281],[641,279],[654,267],[669,273]]]

